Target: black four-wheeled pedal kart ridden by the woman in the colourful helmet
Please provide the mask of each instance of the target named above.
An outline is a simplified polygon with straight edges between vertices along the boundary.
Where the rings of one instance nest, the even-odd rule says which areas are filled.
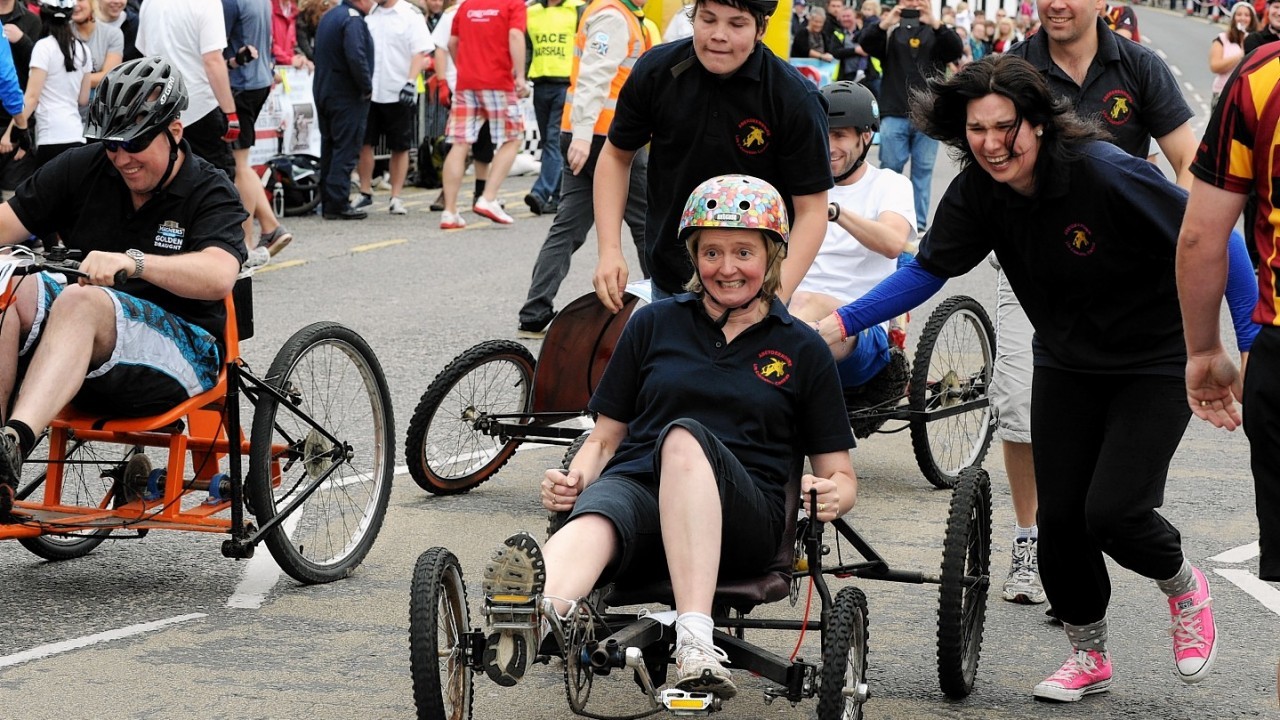
[[[573,452],[571,448],[570,454]],[[567,462],[566,462],[567,465]],[[782,698],[796,703],[817,697],[818,720],[858,720],[872,692],[868,687],[868,607],[861,589],[844,584],[836,591],[829,578],[864,578],[900,583],[931,583],[938,593],[938,682],[950,698],[963,698],[974,687],[986,619],[991,557],[991,486],[987,473],[965,468],[952,489],[943,537],[941,571],[924,574],[895,570],[845,519],[824,523],[797,519],[800,474],[788,486],[787,528],[774,561],[758,578],[722,580],[712,611],[714,642],[728,656],[728,667],[767,680],[765,702]],[[815,501],[815,498],[814,498]],[[564,518],[553,515],[554,533]],[[829,533],[835,530],[835,533]],[[829,559],[837,559],[828,565]],[[846,561],[846,557],[860,557]],[[801,588],[806,585],[808,589]],[[814,596],[817,602],[814,603]],[[769,618],[751,615],[758,607],[790,600],[803,615]],[[538,597],[484,601],[481,614],[490,630],[502,626],[538,626]],[[703,715],[722,707],[722,698],[705,692],[663,688],[675,648],[675,629],[660,614],[620,612],[622,606],[673,605],[669,582],[627,585],[623,579],[598,588],[575,602],[563,629],[544,641],[536,660],[561,664],[570,710],[600,720],[632,720],[667,711]],[[746,639],[748,630],[791,630],[820,638],[820,661],[809,662],[792,652],[783,657]],[[484,675],[486,630],[472,625],[466,583],[458,559],[444,547],[424,552],[413,569],[410,594],[410,652],[413,698],[421,720],[467,720],[472,711],[476,673]],[[790,646],[790,642],[786,642]],[[554,659],[554,660],[553,660]],[[538,669],[530,669],[536,673]],[[589,707],[593,688],[608,691],[605,676],[618,671],[621,684],[634,678],[644,694],[636,707],[613,714]],[[609,707],[616,707],[611,702]]]

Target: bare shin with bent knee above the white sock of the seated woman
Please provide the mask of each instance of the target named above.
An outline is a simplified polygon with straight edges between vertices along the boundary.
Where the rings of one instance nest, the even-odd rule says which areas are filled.
[[[662,443],[658,509],[677,612],[710,615],[719,575],[719,488],[703,446],[684,428]]]

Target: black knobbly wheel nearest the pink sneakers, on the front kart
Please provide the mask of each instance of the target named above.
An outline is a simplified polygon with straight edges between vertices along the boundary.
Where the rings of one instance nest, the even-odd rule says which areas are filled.
[[[938,683],[950,698],[973,692],[989,587],[991,479],[966,468],[951,492],[938,592]]]

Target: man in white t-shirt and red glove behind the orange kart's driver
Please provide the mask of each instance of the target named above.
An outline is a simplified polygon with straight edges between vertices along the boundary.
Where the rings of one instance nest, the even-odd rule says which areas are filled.
[[[188,92],[183,138],[196,155],[234,179],[230,143],[241,127],[223,58],[227,24],[221,3],[147,0],[138,14],[137,45],[143,55],[160,55],[182,73]]]

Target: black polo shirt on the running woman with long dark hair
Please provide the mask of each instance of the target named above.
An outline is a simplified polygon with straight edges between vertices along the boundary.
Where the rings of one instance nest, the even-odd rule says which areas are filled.
[[[995,250],[1036,328],[1037,365],[1181,377],[1174,251],[1187,191],[1151,163],[1091,142],[1080,160],[1052,169],[1038,195],[965,168],[916,261],[952,278]]]

